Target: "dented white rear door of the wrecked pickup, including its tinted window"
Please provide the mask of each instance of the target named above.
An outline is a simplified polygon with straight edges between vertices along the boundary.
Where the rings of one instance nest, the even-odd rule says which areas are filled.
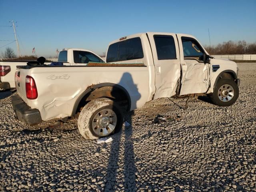
[[[154,99],[173,96],[176,94],[177,82],[180,78],[180,54],[176,34],[152,32],[147,34],[156,74]]]

